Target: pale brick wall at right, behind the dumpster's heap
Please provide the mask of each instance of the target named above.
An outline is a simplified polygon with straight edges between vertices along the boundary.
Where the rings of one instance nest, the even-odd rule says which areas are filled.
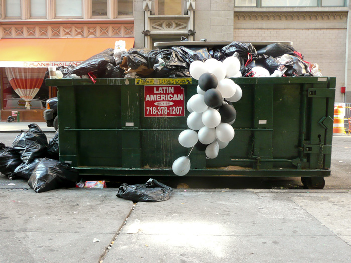
[[[343,102],[340,87],[345,86],[346,33],[344,16],[303,20],[234,16],[234,40],[292,41],[306,61],[319,64],[323,76],[336,77],[337,102]]]

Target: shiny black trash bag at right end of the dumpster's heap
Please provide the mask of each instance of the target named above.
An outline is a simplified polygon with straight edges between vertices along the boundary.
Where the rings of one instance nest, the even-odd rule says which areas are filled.
[[[308,65],[299,57],[284,54],[283,56],[276,58],[279,65],[284,65],[287,70],[284,72],[285,76],[296,77],[304,76],[309,73]]]

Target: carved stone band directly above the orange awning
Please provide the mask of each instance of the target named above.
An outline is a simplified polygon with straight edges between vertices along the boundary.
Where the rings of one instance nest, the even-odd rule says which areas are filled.
[[[0,38],[132,37],[134,24],[0,25]]]

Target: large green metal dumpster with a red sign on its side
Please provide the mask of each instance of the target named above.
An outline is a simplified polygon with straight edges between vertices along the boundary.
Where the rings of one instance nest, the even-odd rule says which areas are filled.
[[[215,159],[194,148],[186,176],[302,177],[308,187],[323,188],[336,78],[233,80],[243,91],[233,103],[235,137]],[[187,129],[195,79],[47,79],[46,85],[58,88],[60,160],[81,175],[175,176],[173,161],[189,154],[178,135]],[[162,95],[163,104],[149,103]]]

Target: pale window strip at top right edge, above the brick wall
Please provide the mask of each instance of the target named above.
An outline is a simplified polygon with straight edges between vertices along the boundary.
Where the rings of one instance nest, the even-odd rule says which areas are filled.
[[[344,0],[235,0],[236,7],[322,7],[345,6]]]

